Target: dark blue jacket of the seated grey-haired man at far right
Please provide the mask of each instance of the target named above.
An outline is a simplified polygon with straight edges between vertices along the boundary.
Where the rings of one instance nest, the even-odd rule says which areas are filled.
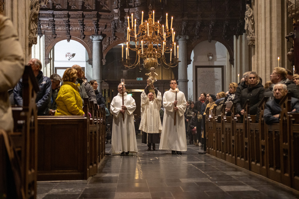
[[[271,125],[273,123],[278,123],[280,118],[281,107],[279,105],[280,100],[269,100],[265,104],[264,110],[264,120],[266,124]],[[296,98],[291,98],[291,110],[292,113],[299,113],[299,100]],[[293,111],[296,109],[296,111]],[[279,114],[279,118],[273,117],[273,115]]]

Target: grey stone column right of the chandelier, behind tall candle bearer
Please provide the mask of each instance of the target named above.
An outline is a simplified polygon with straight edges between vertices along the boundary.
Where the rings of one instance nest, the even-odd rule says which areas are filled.
[[[178,82],[179,82],[179,90],[185,94],[186,100],[188,100],[188,73],[187,73],[187,39],[189,36],[187,35],[179,35],[178,39]]]

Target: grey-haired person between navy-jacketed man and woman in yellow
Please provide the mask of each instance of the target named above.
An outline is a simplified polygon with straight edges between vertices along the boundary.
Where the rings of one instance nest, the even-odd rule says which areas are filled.
[[[48,104],[48,108],[49,108],[49,115],[55,115],[55,111],[57,109],[57,104],[55,102],[58,94],[57,88],[59,87],[59,84],[62,81],[62,79],[57,73],[53,73],[50,76],[50,80],[52,82],[52,96],[51,96],[51,101]]]

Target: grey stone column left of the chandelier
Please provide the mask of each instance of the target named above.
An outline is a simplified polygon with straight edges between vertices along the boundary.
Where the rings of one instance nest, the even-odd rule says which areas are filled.
[[[102,35],[90,36],[92,40],[92,79],[98,82],[98,91],[102,93]]]

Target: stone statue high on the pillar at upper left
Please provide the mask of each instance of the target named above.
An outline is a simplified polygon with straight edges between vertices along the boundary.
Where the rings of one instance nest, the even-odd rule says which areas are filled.
[[[31,0],[30,2],[30,16],[29,16],[29,37],[36,36],[37,18],[40,11],[40,3],[38,0]]]

